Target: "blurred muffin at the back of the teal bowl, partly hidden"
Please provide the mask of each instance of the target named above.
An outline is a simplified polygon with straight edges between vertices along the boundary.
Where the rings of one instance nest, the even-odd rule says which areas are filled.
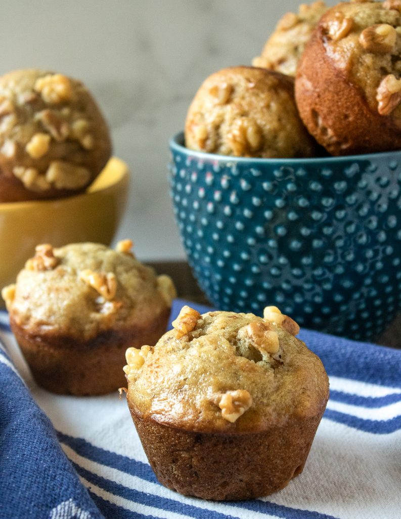
[[[252,60],[253,66],[295,76],[299,58],[321,16],[328,7],[320,0],[301,4],[298,14],[286,13],[263,47],[261,56]]]

